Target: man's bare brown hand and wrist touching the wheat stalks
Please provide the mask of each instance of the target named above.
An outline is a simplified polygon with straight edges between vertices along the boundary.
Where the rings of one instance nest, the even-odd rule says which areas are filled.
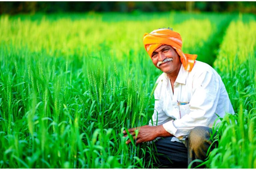
[[[137,138],[136,138],[135,130],[138,130]],[[133,136],[134,141],[136,139],[136,145],[141,142],[152,141],[152,140],[156,139],[157,137],[173,136],[169,132],[165,131],[163,125],[158,125],[158,126],[145,125],[145,126],[128,129],[128,131]],[[124,130],[123,133],[126,134],[126,131]],[[127,136],[127,134],[124,137],[126,137],[126,136]],[[131,140],[128,139],[126,141],[126,144],[129,144],[130,142],[131,142]]]

